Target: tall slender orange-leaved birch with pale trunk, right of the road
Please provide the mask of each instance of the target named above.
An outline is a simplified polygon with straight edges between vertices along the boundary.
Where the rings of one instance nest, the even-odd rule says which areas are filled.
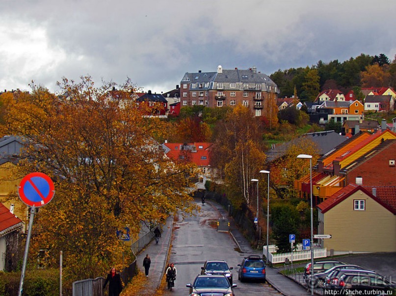
[[[258,122],[248,108],[238,105],[214,133],[211,165],[223,177],[227,196],[235,206],[251,205],[251,179],[263,168],[265,154]]]

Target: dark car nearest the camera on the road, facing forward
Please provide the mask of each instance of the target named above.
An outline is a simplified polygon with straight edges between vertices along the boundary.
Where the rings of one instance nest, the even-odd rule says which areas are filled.
[[[237,287],[236,284],[230,284],[223,274],[200,274],[195,277],[192,284],[185,286],[190,288],[190,296],[235,296],[233,289]]]

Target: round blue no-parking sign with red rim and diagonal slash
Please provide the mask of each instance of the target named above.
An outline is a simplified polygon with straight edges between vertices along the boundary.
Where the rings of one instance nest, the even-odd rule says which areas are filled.
[[[55,190],[51,178],[39,172],[26,175],[18,188],[19,198],[29,206],[47,205],[54,194]]]

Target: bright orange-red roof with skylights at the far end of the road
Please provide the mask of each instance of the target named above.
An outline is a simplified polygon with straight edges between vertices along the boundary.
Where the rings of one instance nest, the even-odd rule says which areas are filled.
[[[169,149],[166,155],[173,160],[179,160],[183,151],[188,151],[189,161],[195,163],[198,166],[208,166],[209,165],[209,148],[212,143],[208,142],[194,142],[194,143],[164,143]],[[187,147],[187,149],[182,149]],[[191,149],[195,147],[195,149]]]

